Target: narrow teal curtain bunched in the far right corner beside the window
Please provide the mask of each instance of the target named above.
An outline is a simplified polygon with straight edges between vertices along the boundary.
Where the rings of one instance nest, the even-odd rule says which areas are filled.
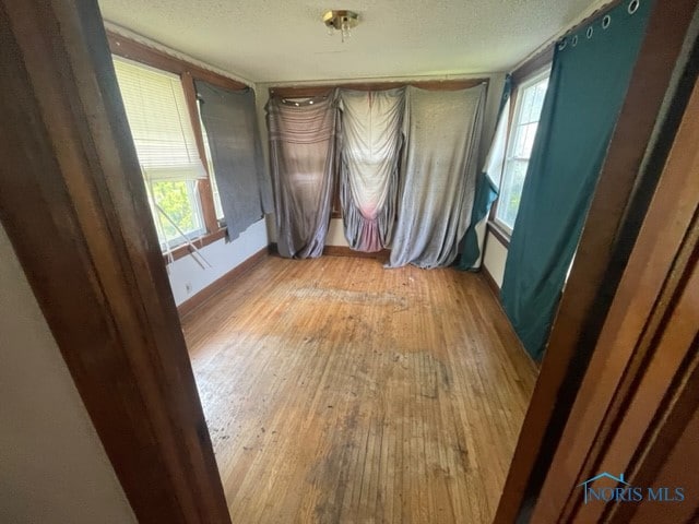
[[[506,107],[509,108],[508,102],[512,93],[512,76],[509,74],[505,78],[505,87],[502,88],[502,96],[500,97],[500,108],[498,110],[498,118],[496,126],[499,126],[503,115],[502,111]],[[507,115],[505,115],[507,117]],[[497,140],[497,129],[496,136]],[[473,202],[473,211],[471,212],[471,224],[466,229],[466,234],[461,241],[461,259],[457,267],[461,271],[477,271],[474,270],[478,258],[481,257],[481,247],[478,246],[478,235],[476,234],[476,226],[483,221],[490,212],[490,205],[498,198],[498,183],[501,175],[500,171],[497,176],[491,172],[487,172],[488,163],[483,171],[478,172],[476,179],[476,194]]]

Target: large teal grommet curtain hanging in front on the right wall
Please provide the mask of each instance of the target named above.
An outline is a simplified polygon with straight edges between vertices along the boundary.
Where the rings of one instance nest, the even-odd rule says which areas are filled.
[[[652,8],[625,0],[556,47],[500,297],[541,359]]]

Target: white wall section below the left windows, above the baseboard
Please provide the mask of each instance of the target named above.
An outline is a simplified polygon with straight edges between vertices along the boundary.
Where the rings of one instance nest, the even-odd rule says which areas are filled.
[[[170,288],[178,306],[216,279],[234,270],[254,253],[269,246],[264,218],[256,222],[232,242],[224,239],[203,247],[201,254],[211,263],[204,267],[197,255],[187,255],[167,264]],[[197,258],[197,259],[196,259]]]

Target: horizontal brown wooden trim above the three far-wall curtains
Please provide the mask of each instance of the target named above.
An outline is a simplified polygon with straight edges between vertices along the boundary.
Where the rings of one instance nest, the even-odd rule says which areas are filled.
[[[363,82],[363,83],[339,83],[328,85],[299,85],[299,86],[272,86],[270,87],[270,97],[279,96],[282,98],[311,97],[328,94],[335,88],[356,90],[356,91],[384,91],[395,87],[412,85],[422,90],[429,91],[459,91],[474,87],[479,84],[488,84],[489,79],[462,79],[462,80],[420,80],[420,81],[387,81],[387,82]]]

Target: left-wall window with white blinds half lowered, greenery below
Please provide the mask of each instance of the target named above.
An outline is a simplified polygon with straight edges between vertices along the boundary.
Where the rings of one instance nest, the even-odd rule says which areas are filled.
[[[164,250],[206,233],[197,150],[178,75],[115,57],[119,90]]]

